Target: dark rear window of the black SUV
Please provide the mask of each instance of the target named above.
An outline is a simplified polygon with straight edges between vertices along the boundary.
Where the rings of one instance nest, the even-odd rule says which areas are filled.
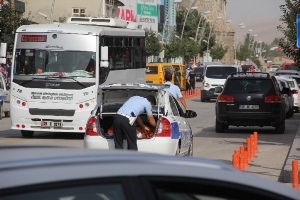
[[[230,79],[226,82],[226,93],[275,93],[271,79]]]

